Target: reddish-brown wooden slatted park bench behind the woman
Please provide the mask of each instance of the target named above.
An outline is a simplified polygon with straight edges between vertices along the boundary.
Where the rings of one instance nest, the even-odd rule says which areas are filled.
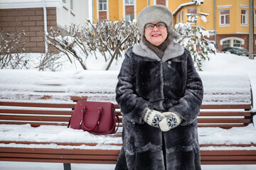
[[[201,76],[203,79],[204,75]],[[0,89],[1,86],[3,85],[0,84]],[[88,93],[85,89],[84,92],[76,93],[80,96],[75,96],[70,89],[69,91],[61,89],[63,84],[60,82],[37,83],[36,87],[36,90],[28,88],[31,89],[28,92],[10,86],[4,87],[5,89],[0,93],[0,161],[56,162],[63,163],[64,169],[70,169],[72,163],[116,163],[119,149],[122,147],[122,123],[116,134],[104,136],[66,128],[75,107],[74,101],[93,101],[93,98],[112,101],[110,98],[114,96],[113,91]],[[8,94],[6,88],[10,89],[10,95],[6,95]],[[205,91],[207,96],[207,84]],[[214,91],[210,93],[218,96]],[[85,94],[89,95],[85,96]],[[230,92],[228,94],[220,92],[220,96],[224,98],[221,100],[225,100],[225,96],[232,95]],[[251,111],[251,103],[240,101],[233,102],[235,104],[220,104],[218,101],[203,103],[201,114],[198,116],[201,164],[256,164],[256,141],[232,142],[232,139],[223,141],[216,139],[217,142],[215,140],[208,142],[207,138],[215,132],[235,135],[236,130],[241,128],[245,133],[252,130],[252,116],[255,113]],[[115,105],[115,108],[122,119],[119,106]],[[27,137],[27,132],[31,135],[35,134],[36,138]],[[77,135],[69,139],[70,134]],[[63,135],[65,137],[62,137]]]

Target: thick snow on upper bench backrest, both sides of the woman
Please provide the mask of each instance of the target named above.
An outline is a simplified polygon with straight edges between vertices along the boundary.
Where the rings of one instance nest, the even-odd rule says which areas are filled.
[[[204,104],[250,104],[250,80],[241,72],[199,72],[204,86]],[[115,101],[118,71],[38,72],[0,70],[0,100],[70,102],[68,96],[88,96],[89,101]]]

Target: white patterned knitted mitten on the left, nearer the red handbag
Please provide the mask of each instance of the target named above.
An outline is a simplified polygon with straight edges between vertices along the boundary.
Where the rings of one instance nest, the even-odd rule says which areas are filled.
[[[145,123],[153,126],[154,128],[159,128],[159,122],[164,119],[164,115],[159,111],[146,108],[142,115],[142,119]]]

